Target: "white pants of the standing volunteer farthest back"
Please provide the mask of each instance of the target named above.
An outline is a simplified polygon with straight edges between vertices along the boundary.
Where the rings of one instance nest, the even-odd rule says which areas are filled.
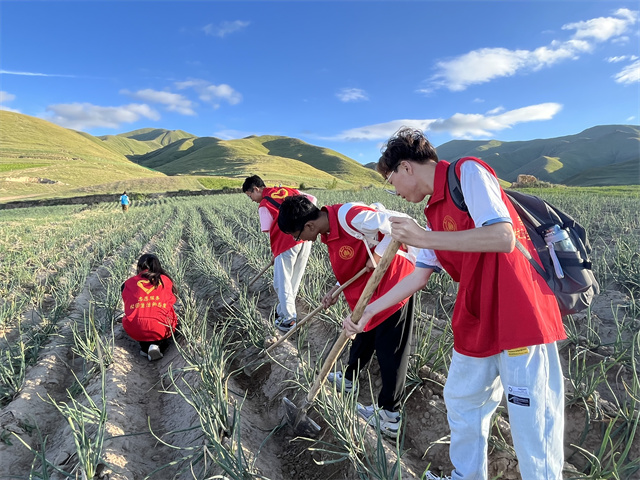
[[[296,318],[296,296],[310,252],[311,242],[302,242],[282,252],[273,262],[273,288],[278,295],[276,312],[286,320]]]

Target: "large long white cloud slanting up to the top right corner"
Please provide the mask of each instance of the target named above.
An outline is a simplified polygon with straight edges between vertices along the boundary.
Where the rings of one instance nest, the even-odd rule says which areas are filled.
[[[591,52],[597,43],[613,41],[630,32],[638,21],[638,12],[619,9],[611,17],[600,17],[584,22],[563,25],[563,30],[575,30],[564,41],[553,40],[549,45],[534,50],[507,48],[481,48],[458,57],[436,63],[436,73],[428,80],[423,93],[438,88],[451,91],[465,90],[470,85],[489,82],[549,67],[558,62],[577,59]]]

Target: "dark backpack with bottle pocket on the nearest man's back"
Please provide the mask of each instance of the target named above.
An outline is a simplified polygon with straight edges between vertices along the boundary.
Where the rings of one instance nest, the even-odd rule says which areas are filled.
[[[456,175],[456,164],[459,160],[452,162],[447,171],[447,181],[449,193],[453,203],[463,212],[468,212],[464,203],[460,179]],[[535,270],[542,275],[551,290],[553,291],[560,313],[569,315],[577,313],[589,305],[593,297],[600,293],[600,286],[591,271],[591,245],[587,239],[587,232],[570,215],[554,207],[543,199],[535,195],[528,195],[513,190],[505,190],[509,200],[513,204],[516,212],[520,216],[522,223],[529,233],[529,237],[540,257],[539,265],[516,239],[516,247],[531,262]],[[569,234],[576,251],[555,251],[563,278],[558,278],[554,270],[554,259],[551,256],[549,247],[545,240],[545,233],[558,225]]]

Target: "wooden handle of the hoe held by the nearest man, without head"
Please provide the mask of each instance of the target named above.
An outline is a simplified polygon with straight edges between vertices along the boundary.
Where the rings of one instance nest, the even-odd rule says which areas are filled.
[[[399,248],[400,248],[400,242],[398,242],[397,240],[392,240],[389,246],[387,247],[387,249],[384,251],[384,255],[380,259],[380,262],[378,262],[378,266],[373,271],[373,274],[369,278],[367,285],[364,287],[364,290],[362,291],[362,295],[360,295],[360,299],[358,300],[358,303],[356,304],[355,308],[353,309],[353,312],[351,313],[351,321],[353,323],[358,323],[360,318],[362,318],[362,314],[364,313],[365,307],[369,303],[369,300],[371,300],[371,297],[373,296],[373,293],[375,292],[376,288],[378,288],[378,284],[380,283],[380,280],[382,280],[382,277],[387,272],[387,269],[389,268],[389,265],[391,264],[391,261],[393,260],[393,257],[395,256]],[[316,396],[318,395],[318,392],[320,391],[320,387],[322,387],[322,384],[327,379],[329,372],[331,371],[334,364],[336,363],[336,360],[338,360],[340,353],[342,353],[342,350],[344,349],[348,341],[349,341],[349,337],[347,336],[347,334],[345,333],[345,330],[343,329],[342,332],[340,333],[340,336],[338,337],[338,340],[336,340],[336,343],[334,343],[333,348],[331,349],[331,351],[329,352],[329,355],[327,355],[327,358],[322,364],[322,369],[320,370],[320,373],[318,373],[318,376],[316,377],[316,380],[313,383],[311,390],[309,390],[309,393],[307,394],[307,399],[306,399],[307,404],[311,404],[313,400],[316,398]]]

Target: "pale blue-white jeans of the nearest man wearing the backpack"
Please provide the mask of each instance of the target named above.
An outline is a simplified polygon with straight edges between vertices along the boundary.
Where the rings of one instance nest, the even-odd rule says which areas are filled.
[[[555,343],[486,358],[453,352],[444,388],[452,480],[486,480],[491,416],[502,395],[523,480],[562,480],[564,380]],[[518,354],[515,355],[514,354]]]

